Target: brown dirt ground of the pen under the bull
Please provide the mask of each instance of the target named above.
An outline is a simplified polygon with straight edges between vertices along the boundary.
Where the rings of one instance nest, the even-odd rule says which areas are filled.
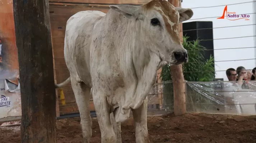
[[[122,142],[135,143],[132,118],[122,124]],[[92,143],[101,142],[101,133],[93,119]],[[185,114],[148,117],[152,143],[256,143],[256,116]],[[1,143],[20,143],[20,128],[0,128]],[[57,121],[57,143],[82,143],[80,120]]]

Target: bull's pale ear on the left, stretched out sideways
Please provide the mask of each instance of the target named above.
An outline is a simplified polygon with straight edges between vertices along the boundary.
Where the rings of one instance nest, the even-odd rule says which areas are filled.
[[[110,8],[117,11],[118,13],[124,15],[130,20],[140,19],[139,7],[132,5],[110,5]]]

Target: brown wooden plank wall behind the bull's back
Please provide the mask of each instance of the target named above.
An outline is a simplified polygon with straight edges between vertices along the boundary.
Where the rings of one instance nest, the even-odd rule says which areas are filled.
[[[64,60],[64,37],[66,21],[72,15],[84,10],[99,10],[107,13],[109,4],[143,4],[148,1],[150,0],[108,0],[107,2],[104,0],[49,0],[55,83],[64,82],[69,77],[69,70]],[[66,85],[63,90],[66,105],[62,105],[59,100],[60,115],[78,112],[71,84]],[[59,90],[56,91],[56,94],[60,99]],[[90,110],[94,110],[92,98],[90,99]]]

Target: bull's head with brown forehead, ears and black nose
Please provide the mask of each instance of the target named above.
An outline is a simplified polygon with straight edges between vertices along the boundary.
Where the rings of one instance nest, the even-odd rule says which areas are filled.
[[[175,8],[166,0],[152,0],[141,6],[111,5],[110,8],[140,24],[141,43],[159,56],[161,65],[188,61],[178,24],[192,17],[191,9]]]

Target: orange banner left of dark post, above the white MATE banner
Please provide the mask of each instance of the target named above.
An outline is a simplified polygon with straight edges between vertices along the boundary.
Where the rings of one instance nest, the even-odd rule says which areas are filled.
[[[19,77],[13,1],[0,0],[0,79]]]

